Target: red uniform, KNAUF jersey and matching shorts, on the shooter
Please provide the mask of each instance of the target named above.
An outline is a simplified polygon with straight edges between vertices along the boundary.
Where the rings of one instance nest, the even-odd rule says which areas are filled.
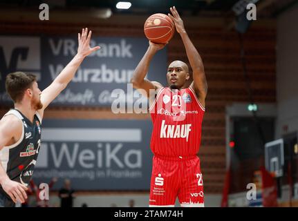
[[[194,90],[161,88],[149,109],[153,122],[150,206],[204,206],[203,177],[196,156],[205,108]]]

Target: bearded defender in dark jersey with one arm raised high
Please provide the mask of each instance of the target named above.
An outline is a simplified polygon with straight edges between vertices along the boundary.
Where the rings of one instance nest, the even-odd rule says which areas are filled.
[[[0,121],[0,207],[15,206],[27,198],[26,190],[32,177],[41,145],[41,122],[44,110],[73,79],[84,58],[100,49],[90,48],[91,31],[78,34],[77,55],[50,86],[39,90],[35,75],[10,73],[6,91],[15,103]]]

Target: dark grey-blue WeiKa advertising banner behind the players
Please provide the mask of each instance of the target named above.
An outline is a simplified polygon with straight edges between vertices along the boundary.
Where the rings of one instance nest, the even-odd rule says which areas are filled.
[[[150,120],[45,119],[32,179],[76,190],[149,190]]]

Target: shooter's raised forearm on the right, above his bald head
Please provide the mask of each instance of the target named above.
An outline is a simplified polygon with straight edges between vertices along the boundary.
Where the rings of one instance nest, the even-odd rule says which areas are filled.
[[[204,66],[202,58],[198,53],[198,50],[196,50],[194,44],[192,44],[192,41],[189,39],[187,32],[181,32],[180,36],[185,46],[187,58],[189,60],[190,66],[192,66],[192,70],[194,73],[196,73],[197,70],[199,73],[203,73]]]

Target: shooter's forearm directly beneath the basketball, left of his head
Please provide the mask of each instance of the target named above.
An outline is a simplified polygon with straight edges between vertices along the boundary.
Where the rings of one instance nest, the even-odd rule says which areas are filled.
[[[136,67],[136,70],[134,71],[133,76],[131,77],[131,83],[133,84],[133,88],[138,88],[138,85],[140,85],[142,81],[144,81],[149,70],[150,62],[155,54],[156,50],[149,46],[147,52],[142,57],[142,60]]]

